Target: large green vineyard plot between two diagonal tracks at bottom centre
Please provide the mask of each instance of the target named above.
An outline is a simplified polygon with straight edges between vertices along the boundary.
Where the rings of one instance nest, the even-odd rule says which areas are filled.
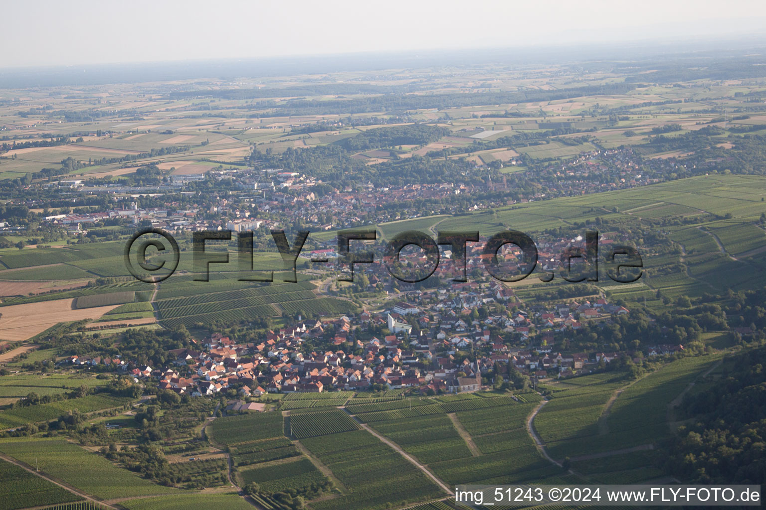
[[[348,489],[337,498],[313,502],[314,510],[380,510],[444,495],[417,467],[365,430],[309,437],[301,443]]]

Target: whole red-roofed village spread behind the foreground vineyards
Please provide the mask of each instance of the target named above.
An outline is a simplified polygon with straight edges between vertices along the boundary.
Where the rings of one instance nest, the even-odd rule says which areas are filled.
[[[466,288],[458,298],[461,306],[470,300],[480,302],[483,295],[492,295],[494,299],[512,297],[498,284],[489,284],[485,290],[477,284],[463,285]],[[411,294],[415,300],[427,295],[415,294]],[[482,386],[483,376],[491,371],[498,373],[498,364],[511,364],[522,374],[537,378],[568,377],[588,373],[620,356],[617,352],[598,352],[595,356],[554,352],[555,328],[529,337],[533,322],[575,327],[572,313],[587,310],[605,313],[607,309],[620,312],[620,307],[609,308],[611,305],[604,300],[572,301],[552,312],[538,310],[532,314],[519,312],[472,320],[456,313],[454,299],[444,307],[439,307],[444,302],[425,306],[401,301],[381,313],[362,311],[351,317],[302,321],[270,331],[260,343],[237,343],[216,333],[208,339],[195,340],[197,349],[170,351],[172,361],[163,369],[135,366],[119,357],[71,356],[64,362],[108,365],[136,380],[155,380],[159,388],[179,395],[210,396],[234,388],[241,398],[257,398],[274,392],[334,389],[411,388],[427,394],[476,391]],[[442,311],[435,311],[438,309]],[[463,312],[464,308],[458,311]],[[552,317],[548,317],[551,313]],[[499,333],[490,333],[490,329]],[[381,338],[360,334],[370,331],[386,334]],[[512,336],[520,341],[510,340]],[[303,344],[309,339],[314,345],[323,342],[332,349],[307,352]],[[661,355],[681,349],[683,346],[654,346],[647,354]],[[466,357],[465,352],[474,355]],[[627,355],[640,356],[637,352]],[[247,407],[243,401],[237,405]],[[240,410],[257,408],[256,405]]]

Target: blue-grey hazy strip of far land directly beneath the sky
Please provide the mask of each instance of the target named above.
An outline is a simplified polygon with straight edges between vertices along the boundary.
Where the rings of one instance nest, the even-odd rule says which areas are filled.
[[[750,52],[753,52],[752,54]],[[283,57],[221,57],[194,60],[155,60],[74,65],[8,67],[0,73],[0,88],[97,86],[118,83],[181,80],[260,80],[277,76],[308,76],[344,72],[372,72],[413,67],[477,65],[530,66],[551,63],[610,62],[651,59],[657,65],[672,59],[764,55],[766,35],[721,34],[699,41],[693,37],[524,47],[431,48],[378,50]],[[296,83],[297,85],[297,83]]]

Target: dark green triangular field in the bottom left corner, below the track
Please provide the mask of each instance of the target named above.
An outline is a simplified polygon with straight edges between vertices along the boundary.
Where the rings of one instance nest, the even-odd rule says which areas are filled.
[[[26,469],[0,460],[0,510],[53,505],[82,498]]]

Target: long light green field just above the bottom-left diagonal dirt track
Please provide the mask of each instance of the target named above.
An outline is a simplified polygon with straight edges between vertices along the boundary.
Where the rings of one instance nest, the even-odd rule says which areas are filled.
[[[101,499],[178,494],[61,439],[0,439],[0,451]]]

